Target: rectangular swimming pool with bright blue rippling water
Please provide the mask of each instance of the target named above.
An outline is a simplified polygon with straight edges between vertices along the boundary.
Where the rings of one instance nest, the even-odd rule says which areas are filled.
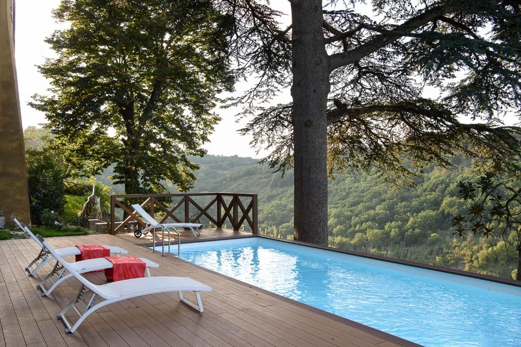
[[[519,346],[519,287],[258,237],[181,258],[419,344]]]

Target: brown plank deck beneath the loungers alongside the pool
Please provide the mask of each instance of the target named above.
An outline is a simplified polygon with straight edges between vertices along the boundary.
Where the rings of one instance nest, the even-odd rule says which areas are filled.
[[[222,230],[222,233],[229,233]],[[233,232],[234,234],[237,232]],[[214,233],[215,235],[215,233]],[[205,231],[202,237],[210,237]],[[55,247],[81,243],[117,245],[130,255],[160,264],[152,276],[188,276],[208,284],[201,293],[204,313],[179,302],[177,293],[154,294],[115,303],[89,316],[73,334],[56,315],[78,282],[63,283],[49,298],[36,289],[38,276],[24,267],[38,254],[30,239],[0,241],[0,346],[380,346],[400,343],[376,330],[346,324],[289,300],[217,275],[176,257],[161,257],[129,235],[49,238]],[[40,272],[43,275],[44,271]],[[104,283],[103,273],[86,275]],[[186,293],[194,300],[192,293]],[[337,317],[340,318],[340,317]],[[74,317],[73,317],[74,319]],[[389,337],[389,336],[387,336]],[[395,343],[391,342],[394,341]]]

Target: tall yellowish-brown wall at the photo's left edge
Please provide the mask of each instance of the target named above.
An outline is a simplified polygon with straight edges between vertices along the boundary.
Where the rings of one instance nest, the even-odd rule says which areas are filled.
[[[0,0],[0,209],[6,226],[15,215],[30,222],[14,46],[14,0]]]

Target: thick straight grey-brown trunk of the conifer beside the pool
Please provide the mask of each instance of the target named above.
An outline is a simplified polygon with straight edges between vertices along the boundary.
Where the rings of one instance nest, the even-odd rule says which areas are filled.
[[[291,4],[295,165],[294,239],[328,244],[327,95],[329,62],[321,0]]]

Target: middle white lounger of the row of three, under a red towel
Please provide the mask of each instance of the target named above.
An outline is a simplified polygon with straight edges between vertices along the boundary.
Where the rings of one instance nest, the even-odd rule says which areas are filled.
[[[151,267],[159,267],[159,264],[156,264],[146,258],[139,258],[141,261],[145,262],[145,275],[150,277],[150,268]],[[65,261],[64,261],[65,262]],[[96,271],[96,270],[105,270],[113,267],[113,264],[109,262],[105,258],[96,258],[96,259],[87,259],[84,261],[69,263],[70,267],[76,270],[78,274],[85,274],[86,272]],[[53,279],[53,276],[58,276],[56,279]],[[71,278],[73,275],[71,272],[67,271],[67,269],[60,262],[56,262],[53,269],[45,278],[38,284],[38,287],[42,290],[42,296],[49,296],[51,292],[58,287],[58,284],[61,282]],[[49,281],[52,283],[51,287],[48,289],[45,288],[45,283]]]

